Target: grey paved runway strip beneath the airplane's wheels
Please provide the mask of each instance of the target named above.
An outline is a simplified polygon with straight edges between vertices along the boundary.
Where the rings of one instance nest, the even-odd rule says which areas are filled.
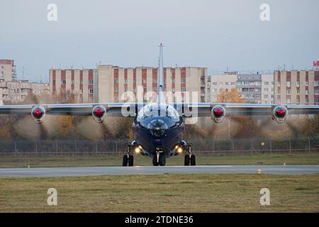
[[[195,173],[247,173],[300,175],[319,173],[319,165],[198,165],[135,167],[35,167],[0,168],[0,177],[85,177],[100,175],[159,175]]]

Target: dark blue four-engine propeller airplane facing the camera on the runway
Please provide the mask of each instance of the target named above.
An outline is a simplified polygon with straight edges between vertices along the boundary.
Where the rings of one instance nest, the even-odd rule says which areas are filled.
[[[43,104],[0,106],[0,114],[30,114],[35,123],[48,115],[93,116],[98,123],[112,116],[134,118],[134,140],[128,143],[123,166],[134,165],[134,153],[152,157],[152,165],[164,166],[166,159],[184,154],[184,165],[196,165],[192,143],[183,138],[185,119],[211,117],[216,123],[225,116],[272,116],[284,123],[289,114],[319,114],[316,105],[167,103],[164,92],[163,47],[159,45],[159,75],[156,101],[152,103]]]

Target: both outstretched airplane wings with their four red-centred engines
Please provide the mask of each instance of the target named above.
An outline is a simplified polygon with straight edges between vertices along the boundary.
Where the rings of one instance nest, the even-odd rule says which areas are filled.
[[[0,106],[0,114],[31,114],[35,111],[48,115],[92,116],[100,111],[104,116],[135,117],[146,103],[106,103],[106,104],[43,104]],[[274,105],[274,104],[171,104],[184,117],[223,118],[224,116],[262,116],[270,115],[286,118],[288,114],[319,114],[319,105]],[[38,109],[38,110],[37,110]],[[278,113],[277,113],[278,112]],[[100,113],[100,114],[101,114]],[[99,117],[99,113],[96,113]],[[42,116],[40,116],[41,118]]]

